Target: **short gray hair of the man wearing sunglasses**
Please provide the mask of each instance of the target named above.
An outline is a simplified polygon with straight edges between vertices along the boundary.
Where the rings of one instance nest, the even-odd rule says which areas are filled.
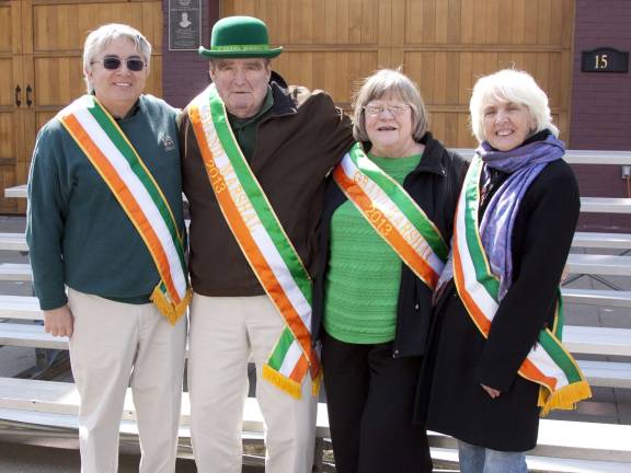
[[[110,23],[100,26],[88,35],[85,44],[83,45],[83,78],[88,93],[93,93],[94,88],[90,83],[87,72],[92,69],[92,62],[96,59],[96,56],[116,39],[128,39],[134,43],[136,50],[147,64],[147,68],[149,68],[151,44],[138,30],[119,23]]]

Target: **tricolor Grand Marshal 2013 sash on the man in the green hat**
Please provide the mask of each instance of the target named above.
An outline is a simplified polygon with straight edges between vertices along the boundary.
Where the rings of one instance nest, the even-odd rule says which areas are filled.
[[[245,161],[215,84],[193,100],[188,117],[221,212],[285,321],[263,378],[299,399],[310,371],[317,394],[320,361],[311,344],[311,277]]]

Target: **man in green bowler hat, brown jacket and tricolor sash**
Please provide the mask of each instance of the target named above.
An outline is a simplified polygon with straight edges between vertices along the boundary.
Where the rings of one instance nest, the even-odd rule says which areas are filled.
[[[213,83],[181,115],[191,209],[188,389],[200,472],[241,472],[246,365],[266,425],[266,471],[310,472],[320,362],[311,276],[324,181],[353,145],[324,93],[300,107],[272,72],[267,27],[231,16],[213,27]]]

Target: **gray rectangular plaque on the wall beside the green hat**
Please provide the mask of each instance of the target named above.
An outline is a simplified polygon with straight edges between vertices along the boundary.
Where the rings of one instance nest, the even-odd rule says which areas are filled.
[[[169,50],[197,50],[202,44],[202,0],[169,0]]]

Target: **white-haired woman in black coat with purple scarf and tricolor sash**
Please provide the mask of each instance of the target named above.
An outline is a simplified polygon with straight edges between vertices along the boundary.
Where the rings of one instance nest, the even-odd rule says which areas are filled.
[[[578,187],[528,73],[481,78],[470,108],[480,147],[438,284],[416,417],[459,440],[462,473],[523,473],[540,413],[589,396],[561,345],[559,281]]]

